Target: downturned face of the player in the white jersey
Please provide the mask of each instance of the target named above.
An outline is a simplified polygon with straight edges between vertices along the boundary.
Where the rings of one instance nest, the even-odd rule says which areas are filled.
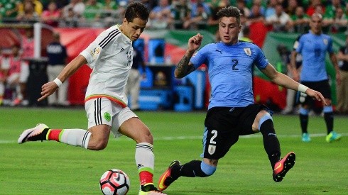
[[[146,26],[147,21],[143,21],[141,18],[134,18],[132,22],[129,22],[124,18],[121,31],[131,41],[137,40]]]

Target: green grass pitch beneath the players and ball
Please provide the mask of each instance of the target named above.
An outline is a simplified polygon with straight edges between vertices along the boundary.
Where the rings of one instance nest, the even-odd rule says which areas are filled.
[[[111,138],[102,151],[54,141],[17,144],[26,128],[45,123],[51,128],[87,128],[84,108],[0,108],[0,194],[102,194],[99,178],[107,169],[122,169],[131,179],[129,194],[138,194],[135,143]],[[156,155],[154,182],[172,160],[200,159],[205,112],[136,112],[153,133]],[[298,116],[273,115],[282,156],[296,153],[295,167],[283,182],[273,182],[261,134],[239,139],[206,178],[181,177],[165,192],[202,194],[347,194],[348,117],[335,116],[339,142],[325,142],[325,123],[311,116],[311,143],[300,140]]]

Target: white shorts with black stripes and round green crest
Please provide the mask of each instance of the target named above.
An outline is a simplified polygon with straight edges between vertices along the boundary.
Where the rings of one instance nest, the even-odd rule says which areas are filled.
[[[107,98],[91,99],[85,103],[85,110],[88,118],[88,128],[98,125],[108,125],[112,127],[115,138],[122,134],[119,127],[129,118],[138,118],[129,107],[122,108],[119,104]]]

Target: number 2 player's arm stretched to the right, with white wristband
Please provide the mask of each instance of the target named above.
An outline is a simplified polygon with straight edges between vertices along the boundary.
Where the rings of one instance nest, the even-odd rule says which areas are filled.
[[[263,74],[265,74],[269,79],[271,79],[271,82],[278,84],[282,87],[286,87],[288,89],[293,89],[295,91],[300,91],[305,94],[308,94],[308,96],[311,96],[317,99],[318,101],[322,101],[325,105],[327,105],[324,96],[322,96],[320,92],[305,87],[303,84],[295,82],[293,79],[286,76],[286,74],[276,71],[273,65],[268,63],[268,65],[264,69],[261,69],[261,72],[263,72]]]

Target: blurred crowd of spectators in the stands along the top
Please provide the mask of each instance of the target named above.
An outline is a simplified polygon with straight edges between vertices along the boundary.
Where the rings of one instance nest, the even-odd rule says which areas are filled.
[[[326,33],[345,31],[348,26],[348,2],[344,0],[0,0],[0,21],[107,28],[121,23],[131,1],[141,1],[151,10],[148,28],[214,32],[217,11],[230,5],[243,13],[244,26],[259,22],[273,31],[303,33],[313,13],[324,16]]]

